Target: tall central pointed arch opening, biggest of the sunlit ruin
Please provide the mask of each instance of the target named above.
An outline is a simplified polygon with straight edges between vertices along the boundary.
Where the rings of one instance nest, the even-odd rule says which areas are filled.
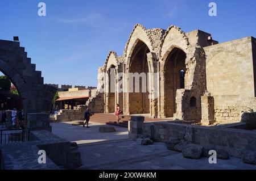
[[[129,74],[129,112],[130,114],[150,113],[150,100],[148,98],[148,64],[147,45],[139,40],[135,45],[130,59]],[[132,85],[131,85],[132,83]],[[138,91],[139,90],[139,91]]]

